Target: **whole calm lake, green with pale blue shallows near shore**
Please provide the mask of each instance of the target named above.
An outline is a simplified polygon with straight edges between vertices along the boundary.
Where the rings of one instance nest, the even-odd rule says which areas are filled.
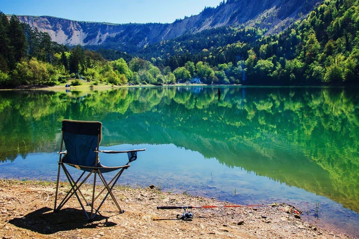
[[[359,237],[358,89],[219,89],[220,97],[218,87],[0,91],[0,177],[55,181],[61,121],[97,120],[101,149],[147,148],[120,184],[285,202],[313,224]],[[116,157],[100,160],[111,166]]]

